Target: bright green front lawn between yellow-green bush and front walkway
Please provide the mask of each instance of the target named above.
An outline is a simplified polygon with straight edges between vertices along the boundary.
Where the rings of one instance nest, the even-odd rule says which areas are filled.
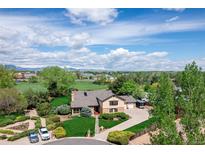
[[[73,117],[63,123],[66,136],[86,136],[90,129],[91,134],[95,132],[95,118]]]

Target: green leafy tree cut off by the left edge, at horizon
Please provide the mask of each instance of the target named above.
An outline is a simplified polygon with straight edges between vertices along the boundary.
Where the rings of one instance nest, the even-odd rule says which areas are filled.
[[[14,84],[13,72],[5,66],[0,65],[0,88],[11,88]]]

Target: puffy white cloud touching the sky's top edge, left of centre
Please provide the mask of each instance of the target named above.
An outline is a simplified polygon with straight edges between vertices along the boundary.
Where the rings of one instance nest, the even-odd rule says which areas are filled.
[[[86,22],[106,25],[114,21],[117,17],[117,9],[67,9],[65,15],[70,18],[74,24],[85,24]]]

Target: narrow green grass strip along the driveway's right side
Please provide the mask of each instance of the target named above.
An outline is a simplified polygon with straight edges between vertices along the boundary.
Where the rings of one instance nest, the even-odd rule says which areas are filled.
[[[133,133],[139,133],[141,131],[143,131],[146,128],[149,128],[150,126],[152,126],[154,123],[156,123],[157,119],[155,117],[152,117],[142,123],[139,123],[137,125],[134,125],[128,129],[126,129],[125,131],[131,131]]]

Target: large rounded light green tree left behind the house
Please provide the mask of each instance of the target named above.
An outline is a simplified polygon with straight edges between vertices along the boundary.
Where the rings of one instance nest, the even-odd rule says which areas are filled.
[[[66,95],[68,88],[75,81],[71,72],[57,66],[44,68],[40,77],[47,84],[51,96]]]

